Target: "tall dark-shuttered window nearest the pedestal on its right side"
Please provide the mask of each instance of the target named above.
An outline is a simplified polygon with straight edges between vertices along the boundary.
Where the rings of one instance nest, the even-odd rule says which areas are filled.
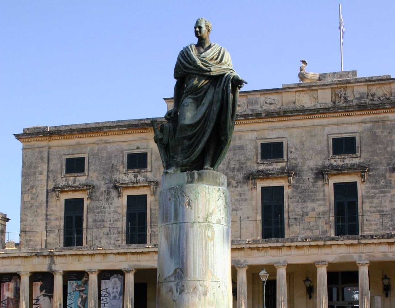
[[[284,237],[284,186],[261,187],[262,238]]]

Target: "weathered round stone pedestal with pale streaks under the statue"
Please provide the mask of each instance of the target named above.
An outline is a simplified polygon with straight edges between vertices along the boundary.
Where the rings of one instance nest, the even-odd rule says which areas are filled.
[[[231,307],[230,198],[211,170],[164,174],[156,307]]]

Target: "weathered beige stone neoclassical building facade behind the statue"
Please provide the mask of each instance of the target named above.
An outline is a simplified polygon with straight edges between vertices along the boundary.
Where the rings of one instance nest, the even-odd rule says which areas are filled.
[[[264,267],[266,307],[395,308],[382,280],[395,278],[395,78],[318,79],[240,93],[218,168],[231,196],[234,307],[263,307]],[[153,135],[150,119],[15,134],[20,245],[1,250],[0,274],[20,279],[20,307],[49,292],[48,273],[53,307],[70,306],[74,282],[86,293],[75,301],[109,307],[115,276],[124,308],[155,306],[163,167]]]

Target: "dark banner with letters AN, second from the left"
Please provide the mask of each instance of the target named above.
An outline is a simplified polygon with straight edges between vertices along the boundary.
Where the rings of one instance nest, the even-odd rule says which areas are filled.
[[[33,308],[53,308],[52,273],[33,273]]]

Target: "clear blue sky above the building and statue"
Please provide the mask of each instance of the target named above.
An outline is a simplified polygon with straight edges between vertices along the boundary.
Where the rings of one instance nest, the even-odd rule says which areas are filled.
[[[344,70],[395,74],[395,1],[342,1]],[[0,2],[0,211],[19,230],[24,127],[163,116],[173,96],[178,52],[210,38],[229,51],[243,90],[298,82],[307,71],[340,71],[339,2],[102,1]],[[10,237],[16,236],[11,235]],[[10,238],[11,239],[11,238]]]

